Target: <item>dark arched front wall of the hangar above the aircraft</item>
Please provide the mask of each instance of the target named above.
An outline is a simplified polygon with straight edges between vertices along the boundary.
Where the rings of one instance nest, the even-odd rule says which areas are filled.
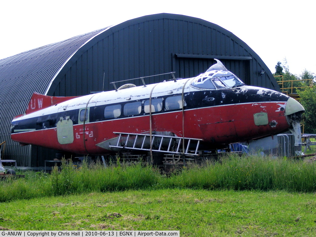
[[[72,57],[48,92],[55,96],[112,90],[112,81],[175,71],[176,77],[204,72],[221,59],[247,84],[277,89],[272,74],[244,42],[210,22],[182,15],[156,14],[105,31]],[[259,71],[267,73],[259,76]],[[103,77],[105,84],[103,85]],[[167,79],[167,78],[166,78]],[[154,83],[161,78],[147,79]]]

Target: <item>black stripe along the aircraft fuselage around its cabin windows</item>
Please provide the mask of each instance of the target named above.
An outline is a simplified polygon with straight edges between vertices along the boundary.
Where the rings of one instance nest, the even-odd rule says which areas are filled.
[[[271,90],[267,90],[267,92],[258,93],[258,89],[249,89],[241,91],[240,88],[232,88],[232,89],[224,89],[224,90],[205,90],[205,91],[197,91],[191,93],[185,93],[185,106],[184,109],[197,109],[197,108],[204,108],[204,107],[213,107],[213,106],[221,106],[221,105],[229,105],[229,104],[246,104],[246,103],[260,103],[260,102],[286,102],[288,97],[282,93],[276,93]],[[181,94],[174,94],[172,96],[179,96]],[[166,110],[165,108],[165,99],[169,96],[161,96],[158,98],[163,98],[163,105],[161,111],[153,112],[152,114],[159,114],[165,113],[170,111],[177,111],[177,110]],[[141,100],[134,100],[128,102],[121,102],[116,104],[122,105],[122,113],[119,117],[113,117],[106,119],[104,117],[104,109],[108,105],[114,104],[104,104],[94,107],[89,107],[89,122],[96,122],[96,121],[106,121],[106,120],[113,120],[119,118],[127,118],[127,117],[136,117],[136,116],[144,116],[148,115],[149,113],[144,112],[144,101],[147,99]],[[135,102],[135,101],[142,101],[142,111],[138,115],[131,115],[125,116],[123,114],[123,107],[124,104]],[[39,116],[29,119],[22,119],[19,121],[12,121],[11,123],[11,133],[18,133],[21,131],[27,130],[41,130],[41,129],[48,129],[48,128],[55,128],[57,122],[62,117],[66,119],[66,117],[72,120],[73,124],[78,124],[78,117],[79,117],[79,109],[76,110],[69,110],[58,112],[55,114]]]

